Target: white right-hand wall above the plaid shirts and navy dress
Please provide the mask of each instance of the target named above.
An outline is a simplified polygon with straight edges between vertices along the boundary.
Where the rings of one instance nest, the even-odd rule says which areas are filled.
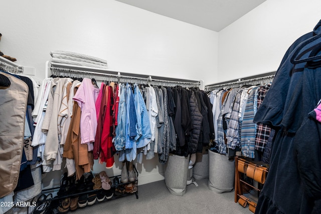
[[[321,1],[267,0],[219,32],[218,79],[276,71],[287,48],[321,19]]]

